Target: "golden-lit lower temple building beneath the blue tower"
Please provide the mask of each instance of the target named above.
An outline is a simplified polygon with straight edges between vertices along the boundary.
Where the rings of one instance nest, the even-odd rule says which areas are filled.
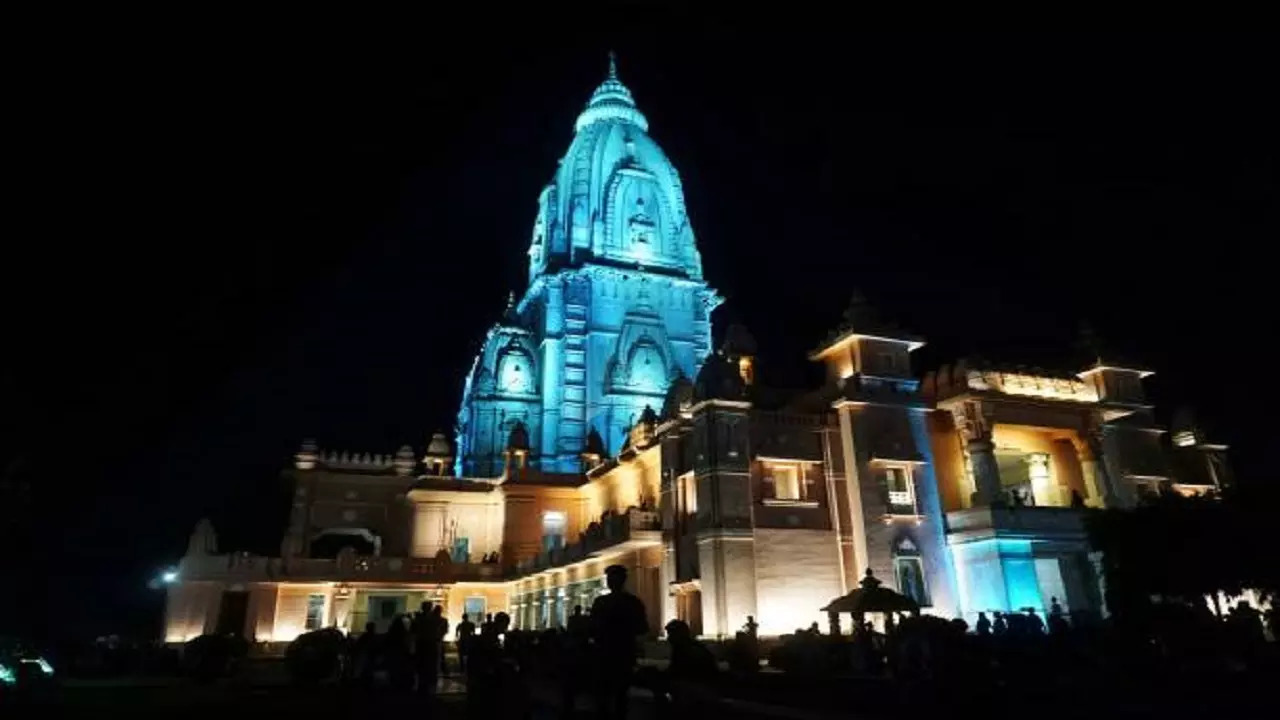
[[[922,342],[849,334],[813,354],[828,380],[765,397],[749,342],[677,379],[614,456],[576,473],[530,460],[522,427],[494,478],[457,478],[435,436],[369,456],[303,443],[278,557],[219,553],[197,527],[170,587],[166,637],[237,632],[271,647],[337,626],[385,628],[422,601],[508,612],[517,628],[563,626],[621,564],[657,630],[705,637],[750,615],[777,635],[872,569],[927,612],[1052,598],[1084,621],[1105,612],[1083,516],[1169,487],[1229,482],[1225,447],[1187,419],[1166,433],[1142,393],[1149,373],[1097,365],[1078,375],[947,365],[916,378]]]

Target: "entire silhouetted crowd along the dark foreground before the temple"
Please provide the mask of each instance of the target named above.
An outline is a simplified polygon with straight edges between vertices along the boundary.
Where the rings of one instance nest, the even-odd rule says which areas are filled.
[[[563,628],[512,629],[504,612],[476,618],[479,623],[462,616],[454,639],[474,716],[525,716],[532,703],[558,705],[568,716],[590,698],[599,716],[622,719],[636,687],[652,693],[660,716],[694,716],[712,708],[719,692],[742,689],[741,682],[732,687],[722,682],[716,655],[681,620],[664,628],[667,666],[637,669],[639,641],[650,632],[644,603],[626,591],[622,566],[608,568],[605,579],[609,592],[596,598],[589,612],[573,607]],[[371,687],[375,670],[383,669],[393,689],[434,693],[438,679],[448,670],[444,641],[449,624],[442,610],[424,603],[420,612],[398,618],[381,634],[370,625],[351,648],[352,679]],[[1044,616],[1034,609],[979,612],[972,628],[964,620],[919,612],[886,621],[882,630],[865,618],[854,620],[852,634],[841,633],[835,621],[832,632],[823,633],[814,623],[781,644],[771,643],[769,665],[809,678],[879,675],[908,682],[963,682],[974,691],[992,682],[998,684],[998,678],[1039,676],[1037,673],[1084,682],[1097,676],[1100,667],[1115,665],[1119,657],[1097,650],[1110,647],[1107,638],[1114,633],[1100,634],[1093,625],[1073,626],[1057,598],[1051,600]],[[1193,620],[1184,619],[1175,626],[1185,632],[1202,625]],[[1211,625],[1239,635],[1239,647],[1262,637],[1257,612],[1244,603],[1219,621],[1204,624],[1206,633],[1213,632]],[[722,652],[728,678],[756,676],[762,641],[755,619],[749,616],[726,646]],[[1114,673],[1103,673],[1110,675]]]

